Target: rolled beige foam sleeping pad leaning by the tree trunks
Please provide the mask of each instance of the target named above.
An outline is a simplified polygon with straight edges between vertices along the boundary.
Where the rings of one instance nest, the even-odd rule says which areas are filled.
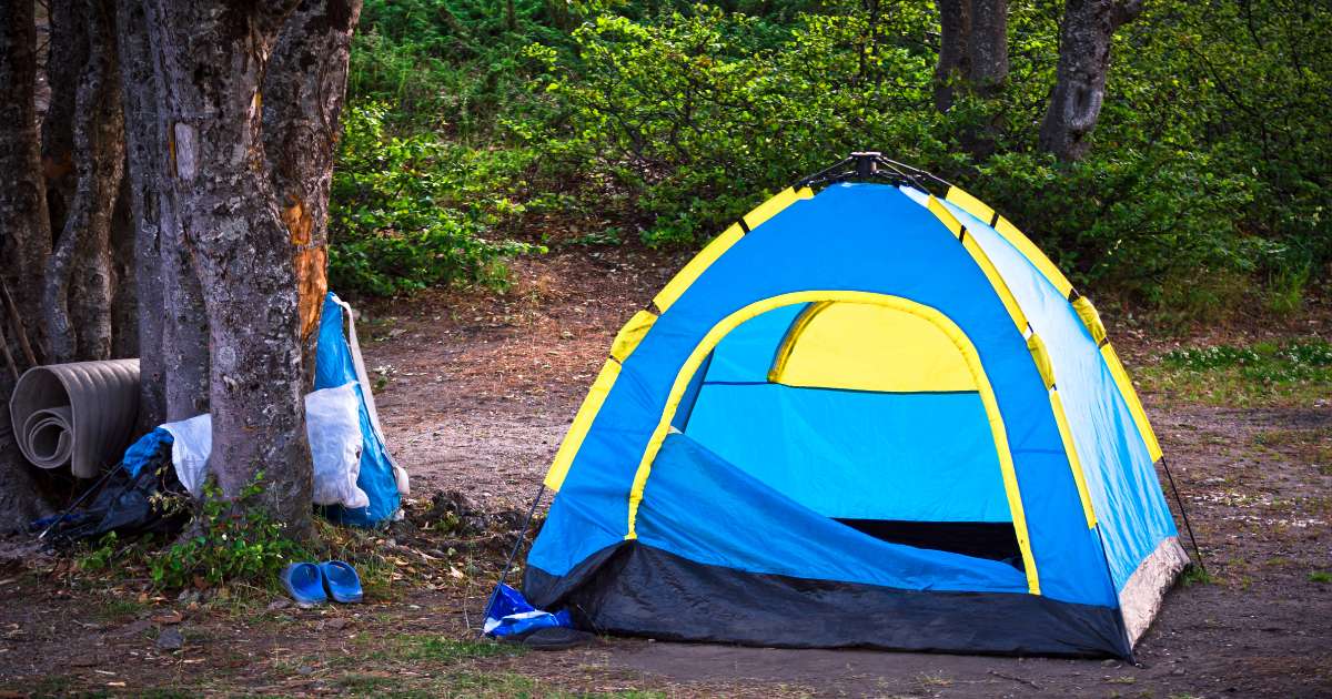
[[[93,478],[120,461],[139,417],[139,359],[35,366],[9,399],[23,457]]]

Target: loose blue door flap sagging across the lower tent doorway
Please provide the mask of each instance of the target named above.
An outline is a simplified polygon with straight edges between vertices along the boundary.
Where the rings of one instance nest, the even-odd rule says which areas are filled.
[[[903,590],[1027,591],[1006,563],[883,542],[813,513],[686,435],[666,438],[657,467],[638,539],[690,561]]]

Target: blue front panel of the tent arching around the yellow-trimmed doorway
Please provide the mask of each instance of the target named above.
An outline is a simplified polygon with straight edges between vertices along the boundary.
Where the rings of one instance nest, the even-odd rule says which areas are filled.
[[[1104,569],[1083,521],[1046,387],[1026,341],[964,248],[896,188],[838,184],[797,201],[741,238],[653,325],[623,362],[551,509],[554,522],[577,509],[595,525],[574,525],[581,550],[623,538],[634,473],[686,358],[730,313],[790,292],[859,290],[908,298],[951,318],[975,345],[1007,426],[1044,595],[1112,604],[1110,584],[1088,586]],[[654,467],[649,487],[661,471]],[[645,499],[650,498],[646,495]],[[577,501],[577,507],[559,506]],[[546,535],[542,534],[542,538]],[[585,538],[582,538],[585,537]],[[1091,538],[1090,538],[1091,537]],[[554,543],[538,538],[530,561],[561,575]]]

